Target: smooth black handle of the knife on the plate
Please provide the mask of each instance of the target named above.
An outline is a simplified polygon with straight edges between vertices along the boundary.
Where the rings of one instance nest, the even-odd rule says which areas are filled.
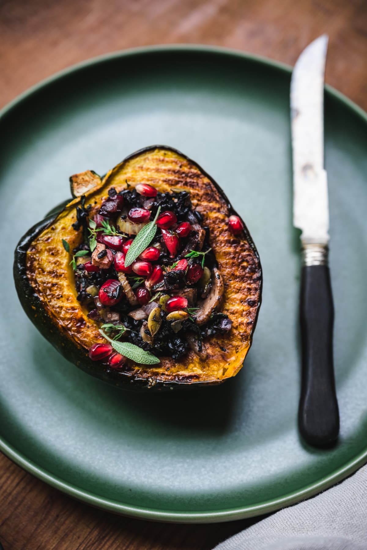
[[[316,447],[331,445],[339,433],[333,322],[329,268],[327,265],[305,265],[300,295],[302,388],[298,423],[302,437]]]

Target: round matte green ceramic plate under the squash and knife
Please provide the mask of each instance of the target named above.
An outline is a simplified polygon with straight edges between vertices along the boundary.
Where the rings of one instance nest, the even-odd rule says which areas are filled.
[[[335,449],[315,450],[300,441],[296,420],[290,76],[282,65],[218,48],[146,48],[78,65],[2,112],[0,436],[17,464],[114,512],[214,522],[297,502],[367,459],[367,118],[326,90],[341,435]],[[217,180],[264,268],[245,367],[192,395],[130,394],[79,371],[28,321],[12,280],[20,235],[68,196],[70,174],[105,173],[155,143],[177,147]]]

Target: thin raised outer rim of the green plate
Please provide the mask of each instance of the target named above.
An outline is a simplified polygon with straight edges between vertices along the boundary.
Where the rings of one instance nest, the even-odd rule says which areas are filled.
[[[135,56],[146,53],[160,53],[160,52],[188,52],[192,53],[194,51],[200,51],[204,53],[211,54],[224,54],[229,57],[238,57],[243,58],[247,61],[258,63],[266,66],[267,68],[274,68],[281,70],[283,73],[291,74],[292,67],[285,63],[275,61],[274,59],[269,59],[264,56],[259,56],[249,52],[243,52],[240,50],[235,50],[233,48],[226,48],[220,46],[209,46],[209,45],[196,45],[196,44],[168,44],[168,45],[156,45],[156,46],[144,46],[138,48],[128,48],[126,50],[120,50],[117,52],[102,54],[101,56],[92,57],[86,59],[80,63],[70,65],[65,69],[58,71],[57,73],[48,76],[47,78],[41,80],[39,83],[29,87],[24,92],[15,97],[12,101],[7,103],[0,110],[0,123],[2,122],[3,117],[8,114],[12,109],[17,108],[21,102],[25,101],[29,96],[35,94],[38,90],[47,86],[48,84],[54,83],[57,80],[61,80],[64,76],[72,74],[78,70],[90,67],[91,65],[96,65],[98,63],[104,63],[111,61],[111,59],[117,59],[125,56]],[[367,123],[367,113],[359,107],[356,103],[350,100],[347,96],[337,91],[330,85],[325,85],[325,91],[327,95],[334,97],[340,103],[343,103],[344,106],[347,106],[349,109],[357,114],[365,123]],[[65,482],[62,478],[52,474],[50,471],[46,470],[43,467],[38,466],[34,461],[29,460],[26,456],[19,452],[15,447],[10,445],[5,438],[0,434],[0,451],[6,455],[10,460],[15,464],[28,471],[30,474],[39,478],[41,481],[46,482],[48,485],[59,489],[63,493],[68,494],[70,497],[73,497],[77,500],[81,500],[87,504],[90,504],[96,508],[101,508],[104,510],[111,511],[113,513],[122,514],[138,519],[144,520],[154,520],[154,521],[165,521],[165,522],[175,522],[175,523],[216,523],[223,521],[233,521],[244,518],[250,518],[252,516],[262,515],[266,513],[273,512],[283,507],[295,504],[300,500],[313,497],[315,494],[320,491],[331,487],[335,483],[343,480],[354,471],[356,471],[360,466],[362,466],[367,461],[367,446],[364,450],[358,453],[353,459],[347,461],[347,463],[339,466],[337,469],[333,470],[330,474],[321,477],[319,480],[310,483],[309,485],[298,489],[296,491],[286,493],[281,497],[276,497],[269,500],[264,500],[255,505],[247,505],[244,507],[235,507],[229,509],[218,509],[218,510],[204,510],[204,511],[172,511],[164,509],[155,509],[150,507],[139,507],[124,504],[118,502],[117,500],[108,499],[101,497],[98,494],[94,494],[90,491],[85,491],[79,487],[73,485],[72,483]]]

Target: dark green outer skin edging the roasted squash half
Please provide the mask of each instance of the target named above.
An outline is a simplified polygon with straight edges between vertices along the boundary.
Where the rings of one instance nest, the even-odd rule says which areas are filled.
[[[210,179],[210,181],[215,185],[218,192],[223,197],[224,201],[226,201],[227,206],[229,208],[229,212],[231,214],[234,214],[238,216],[238,213],[235,212],[233,209],[231,203],[227,199],[227,196],[223,193],[220,186],[210,177],[209,174],[207,174],[198,163],[191,160],[189,157],[178,151],[177,149],[174,149],[173,147],[168,147],[165,145],[153,145],[149,147],[145,147],[144,149],[140,149],[139,151],[136,151],[132,153],[132,155],[129,155],[124,159],[124,161],[128,161],[131,158],[134,158],[138,155],[141,155],[142,153],[149,152],[155,149],[165,149],[168,151],[173,151],[174,153],[177,153],[178,155],[184,157],[187,159],[190,163],[194,164],[202,174],[204,174],[207,178]],[[122,161],[122,162],[124,162]],[[190,381],[189,379],[185,379],[185,381],[152,381],[151,379],[147,379],[146,377],[139,377],[134,374],[132,371],[118,371],[118,370],[112,370],[106,367],[102,363],[102,361],[92,361],[87,353],[87,350],[83,348],[83,346],[80,346],[78,343],[73,342],[70,337],[57,325],[57,323],[50,318],[48,313],[46,312],[45,308],[43,307],[42,300],[39,298],[39,296],[35,293],[34,288],[32,287],[27,274],[26,274],[26,254],[28,249],[30,248],[32,242],[40,235],[46,227],[51,225],[53,221],[56,219],[58,214],[63,210],[63,208],[68,204],[69,201],[65,201],[58,207],[54,208],[45,219],[43,219],[41,222],[36,223],[33,227],[31,227],[28,232],[26,232],[23,237],[19,240],[19,243],[17,245],[17,248],[14,252],[14,268],[13,268],[13,274],[14,274],[14,282],[15,282],[15,288],[17,289],[17,294],[19,301],[21,305],[23,306],[23,309],[32,321],[32,323],[35,325],[35,327],[40,331],[43,337],[50,342],[54,348],[56,348],[65,359],[72,362],[75,366],[80,368],[81,370],[87,372],[88,374],[99,378],[103,380],[104,382],[107,382],[109,384],[113,384],[113,386],[121,387],[128,390],[144,390],[149,389],[152,390],[173,390],[173,389],[194,389],[194,388],[202,388],[207,386],[217,386],[218,384],[221,384],[225,381],[224,380],[218,380],[218,381]],[[240,216],[239,216],[240,217]],[[258,251],[256,250],[256,247],[254,245],[253,240],[251,239],[251,236],[249,234],[249,231],[247,227],[245,226],[245,223],[243,222],[242,218],[240,218],[243,226],[244,226],[244,234],[245,237],[251,246],[251,249],[253,250],[254,255],[256,256],[256,259],[259,262],[259,272],[260,272],[260,289],[259,289],[259,304],[258,308],[256,310],[256,317],[253,323],[253,328],[250,334],[249,338],[249,344],[251,346],[252,338],[254,334],[254,330],[256,327],[256,323],[258,321],[258,315],[259,315],[259,309],[261,305],[261,293],[262,293],[262,269],[260,264],[260,258]],[[227,378],[228,379],[228,378]]]

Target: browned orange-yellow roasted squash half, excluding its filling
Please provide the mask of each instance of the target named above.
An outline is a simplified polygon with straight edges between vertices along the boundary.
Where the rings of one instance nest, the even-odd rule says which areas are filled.
[[[66,359],[82,370],[115,386],[128,389],[209,386],[235,376],[242,367],[251,345],[261,303],[262,273],[259,255],[250,234],[220,187],[198,164],[179,151],[166,146],[147,147],[133,153],[109,171],[103,179],[95,172],[88,171],[75,174],[70,178],[70,184],[75,199],[63,210],[52,213],[32,227],[20,239],[15,250],[14,279],[19,300],[42,335]],[[185,195],[189,196],[196,216],[201,219],[201,227],[206,228],[206,234],[209,235],[211,252],[207,257],[211,255],[211,270],[207,269],[206,275],[209,277],[211,271],[211,281],[209,295],[203,293],[196,304],[198,307],[185,311],[194,315],[199,332],[202,327],[213,326],[212,319],[218,315],[227,320],[227,331],[204,332],[202,347],[199,348],[199,337],[194,334],[196,345],[189,346],[187,353],[179,359],[174,359],[172,354],[161,354],[158,356],[160,362],[157,364],[142,365],[127,359],[122,368],[114,368],[106,359],[90,358],[91,346],[108,342],[100,331],[101,324],[91,318],[90,307],[88,309],[78,295],[75,287],[76,275],[70,258],[75,249],[83,248],[81,243],[86,238],[83,216],[87,215],[91,219],[96,215],[111,188],[114,190],[113,193],[119,194],[127,188],[130,191],[134,190],[138,184],[151,185],[158,194],[167,196],[169,193],[172,195],[187,192]],[[126,216],[122,218],[125,219]],[[190,243],[191,241],[187,245],[187,250],[191,250]],[[159,243],[157,246],[160,248]],[[100,252],[98,254],[101,255]],[[105,252],[102,251],[103,254]],[[113,254],[117,255],[115,251]],[[204,265],[204,256],[199,257],[200,261],[201,257]],[[188,260],[191,261],[190,257]],[[80,258],[80,261],[83,262],[83,258]],[[200,262],[195,266],[198,267],[199,264]],[[165,269],[163,267],[163,270]],[[200,267],[198,269],[200,270]],[[158,285],[155,290],[160,288],[162,287]],[[122,290],[124,292],[125,289]],[[186,290],[190,294],[190,289]],[[171,292],[171,296],[174,298],[174,295],[180,293],[180,290]],[[158,299],[163,298],[163,302],[158,303],[159,307],[156,308],[158,317],[162,304],[165,309],[164,301],[167,300],[167,296],[165,298],[164,295],[165,292],[158,292]],[[90,294],[87,296],[91,299]],[[182,320],[187,320],[188,315],[185,311],[176,311],[173,315],[178,330],[182,326]],[[165,310],[165,316],[168,317],[167,312],[168,309]],[[154,334],[157,317],[152,315],[156,313],[150,315],[150,332]],[[230,330],[228,326],[231,327]],[[144,340],[151,342],[149,330],[146,329],[145,333]]]

